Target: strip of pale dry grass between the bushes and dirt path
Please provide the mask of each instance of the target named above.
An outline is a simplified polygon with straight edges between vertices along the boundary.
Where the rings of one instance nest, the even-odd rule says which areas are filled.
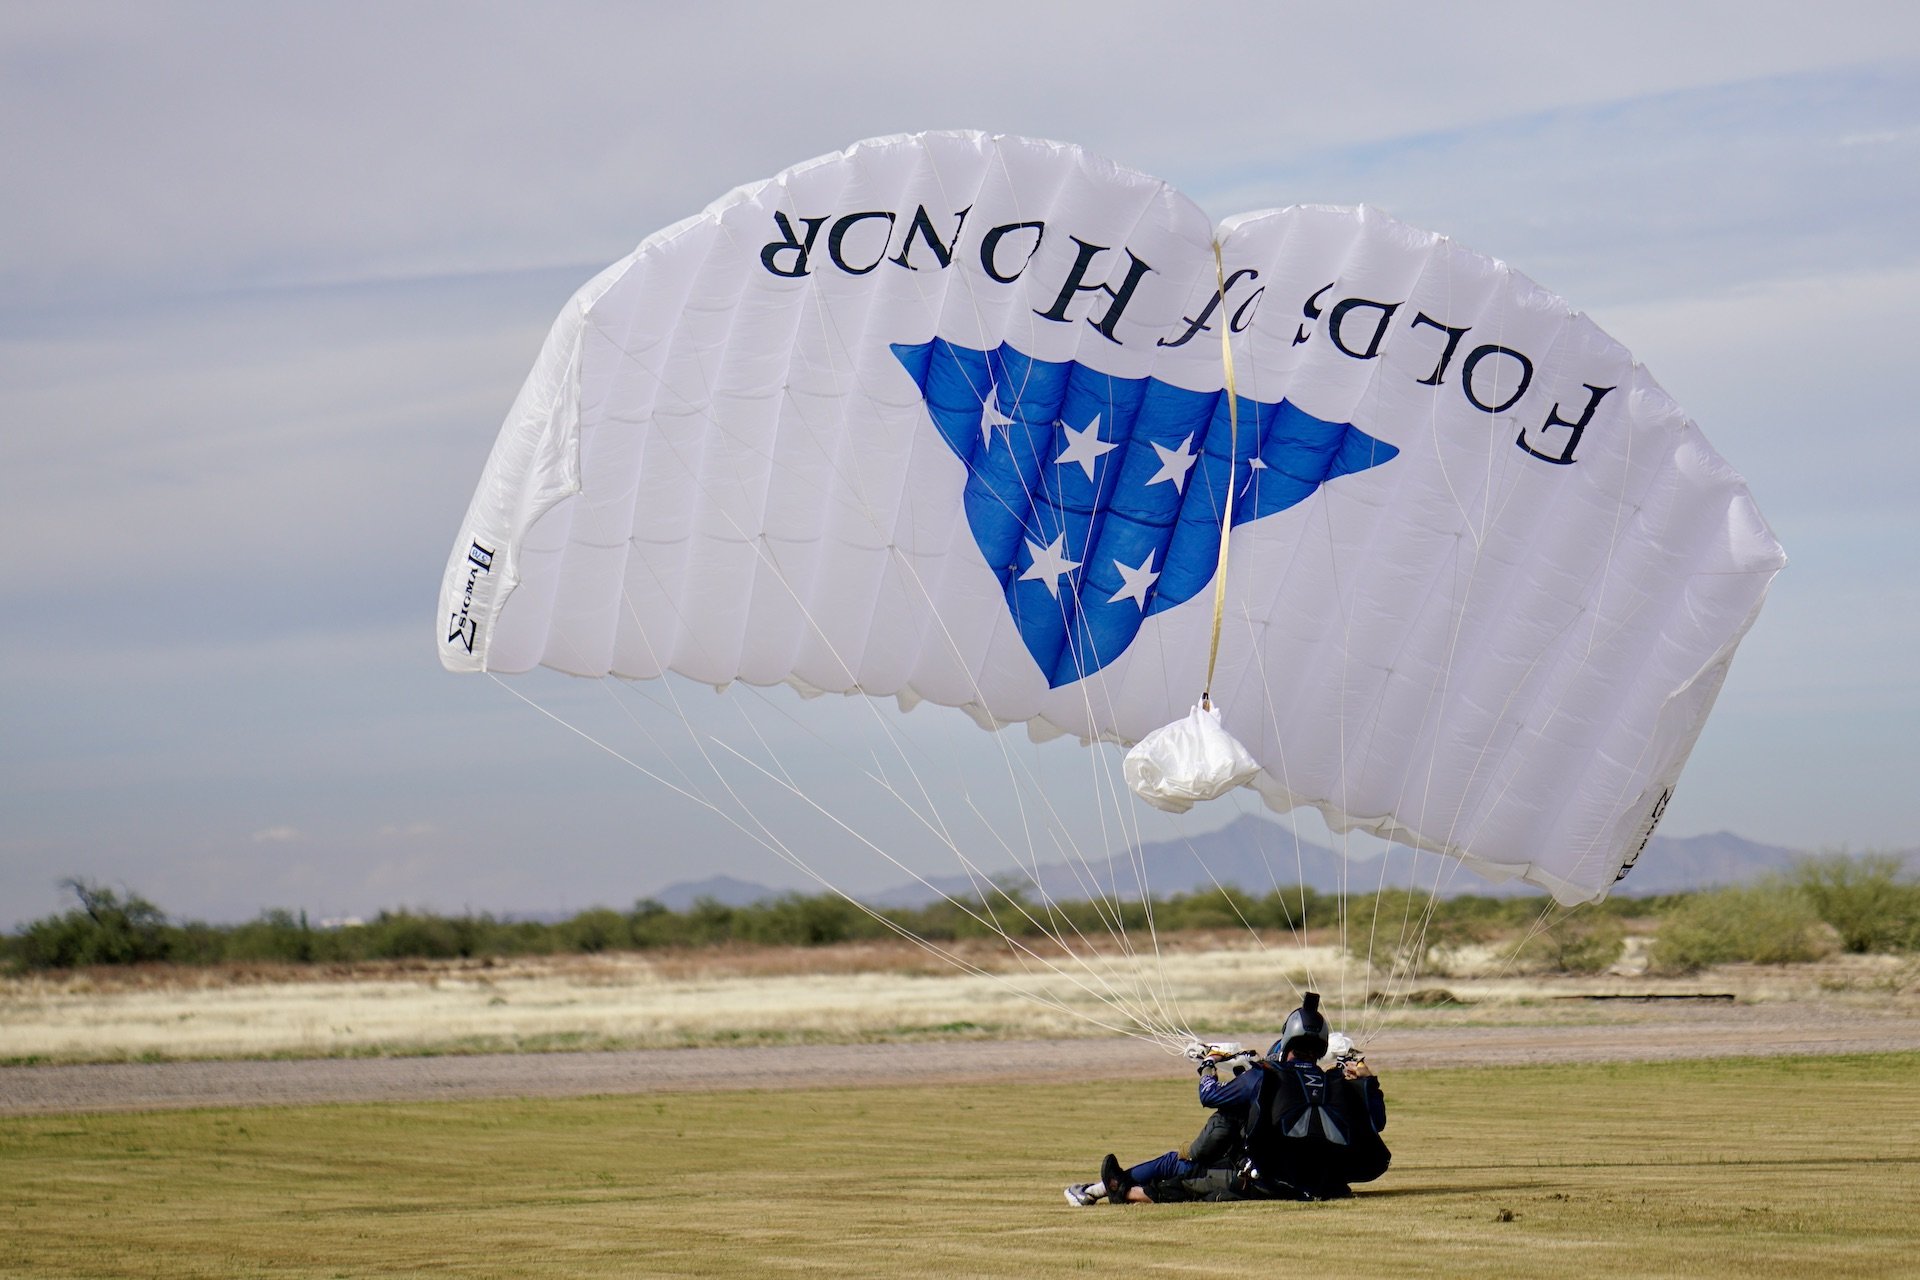
[[[979,971],[906,942],[858,942],[33,975],[0,981],[0,1063],[1098,1036],[1125,1025],[1116,1006],[1167,1009],[1204,1034],[1258,1040],[1309,981],[1344,1025],[1367,1032],[1645,1015],[1576,998],[1594,994],[1709,990],[1868,1015],[1920,1006],[1920,965],[1885,956],[1661,977],[1632,958],[1599,975],[1524,975],[1492,950],[1463,952],[1453,975],[1402,983],[1384,1006],[1363,1006],[1380,979],[1332,940],[1181,935],[1158,954],[1142,940],[1137,956],[1056,969],[987,942],[956,952]]]

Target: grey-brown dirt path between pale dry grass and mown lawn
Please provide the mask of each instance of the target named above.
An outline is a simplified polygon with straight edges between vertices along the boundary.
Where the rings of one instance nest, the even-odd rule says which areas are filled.
[[[1920,1015],[1809,1006],[1649,1007],[1605,1027],[1394,1031],[1369,1046],[1380,1071],[1457,1065],[1665,1061],[1763,1054],[1920,1050]],[[1187,1063],[1133,1040],[632,1050],[307,1061],[96,1063],[0,1069],[0,1115],[470,1098],[578,1098],[739,1088],[1167,1079]]]

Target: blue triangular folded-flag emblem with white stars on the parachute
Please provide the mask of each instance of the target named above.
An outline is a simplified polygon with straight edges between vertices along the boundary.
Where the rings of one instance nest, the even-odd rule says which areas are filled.
[[[935,338],[893,344],[893,355],[966,462],[973,541],[1054,689],[1212,583],[1229,470],[1240,526],[1400,453],[1346,422],[1246,397],[1235,445],[1225,391],[1114,378],[1006,344]]]

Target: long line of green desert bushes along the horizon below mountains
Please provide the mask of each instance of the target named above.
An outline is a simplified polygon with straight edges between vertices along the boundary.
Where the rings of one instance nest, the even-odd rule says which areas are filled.
[[[472,960],[645,952],[726,944],[831,946],[902,933],[933,942],[991,938],[1100,938],[1116,929],[1190,933],[1208,929],[1327,929],[1354,956],[1417,975],[1444,971],[1465,946],[1507,944],[1532,971],[1597,973],[1613,965],[1626,921],[1653,917],[1649,960],[1667,973],[1713,963],[1793,963],[1834,950],[1920,950],[1920,885],[1899,858],[1882,854],[1807,860],[1789,875],[1755,885],[1665,898],[1609,898],[1574,912],[1542,910],[1540,898],[1388,889],[1348,902],[1334,894],[1238,889],[1171,894],[1150,902],[1039,902],[1002,883],[977,902],[868,912],[837,894],[781,894],[753,906],[703,898],[674,912],[641,898],[628,912],[589,908],[563,921],[507,919],[492,913],[440,915],[388,910],[365,923],[317,927],[305,912],[267,910],[244,925],[175,921],[138,892],[115,892],[86,879],[63,881],[77,906],[0,935],[0,971],[25,973],[129,963],[353,963],[376,960]]]

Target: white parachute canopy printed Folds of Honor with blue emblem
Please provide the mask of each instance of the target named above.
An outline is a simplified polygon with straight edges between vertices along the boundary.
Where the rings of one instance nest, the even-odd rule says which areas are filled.
[[[1563,902],[1632,865],[1784,564],[1680,407],[1503,263],[1365,207],[1215,228],[1075,146],[943,132],[743,186],[574,296],[440,652],[1131,745],[1202,693],[1223,530],[1212,700],[1265,802]]]

